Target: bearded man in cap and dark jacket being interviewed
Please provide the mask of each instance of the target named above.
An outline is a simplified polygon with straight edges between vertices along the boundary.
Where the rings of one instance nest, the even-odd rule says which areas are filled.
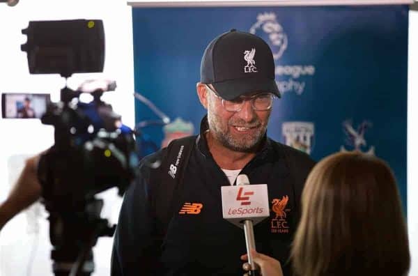
[[[281,261],[289,275],[300,194],[314,161],[266,137],[274,95],[280,96],[270,47],[249,33],[222,34],[203,54],[196,89],[208,115],[173,200],[180,207],[198,204],[199,210],[179,212],[173,204],[173,216],[162,227],[155,206],[164,201],[158,190],[166,185],[162,175],[168,169],[148,164],[164,164],[169,150],[145,158],[125,193],[111,275],[242,275],[244,232],[222,218],[221,201],[222,185],[233,185],[238,174],[247,174],[250,183],[267,183],[269,200],[282,203],[281,213],[272,208],[254,232],[257,251]]]

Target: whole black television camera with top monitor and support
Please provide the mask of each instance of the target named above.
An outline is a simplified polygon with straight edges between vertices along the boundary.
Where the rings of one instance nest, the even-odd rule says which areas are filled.
[[[104,29],[101,20],[29,22],[27,53],[31,74],[102,72]],[[77,90],[65,86],[58,103],[49,103],[41,121],[54,126],[54,145],[40,156],[38,178],[49,212],[55,275],[90,275],[92,247],[114,226],[100,217],[103,201],[95,194],[118,187],[123,194],[134,179],[138,158],[134,134],[121,123],[102,93],[115,82],[85,82]],[[89,103],[79,101],[91,93]]]

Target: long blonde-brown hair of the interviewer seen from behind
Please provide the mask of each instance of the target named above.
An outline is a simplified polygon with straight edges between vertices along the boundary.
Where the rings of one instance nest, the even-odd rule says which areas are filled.
[[[302,192],[291,259],[301,276],[406,275],[408,234],[389,166],[359,152],[318,162]]]

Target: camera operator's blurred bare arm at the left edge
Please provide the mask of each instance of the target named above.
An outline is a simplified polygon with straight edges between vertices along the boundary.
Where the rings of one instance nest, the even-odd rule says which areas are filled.
[[[26,160],[8,198],[0,204],[0,230],[12,217],[40,198],[41,186],[37,175],[39,157],[36,155]]]

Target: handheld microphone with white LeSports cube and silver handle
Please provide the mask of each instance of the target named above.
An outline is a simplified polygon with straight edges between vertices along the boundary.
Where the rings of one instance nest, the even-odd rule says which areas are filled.
[[[251,248],[256,250],[253,225],[270,216],[267,185],[249,185],[247,175],[240,174],[237,185],[222,186],[221,193],[224,219],[244,228],[248,262],[251,266],[249,275],[258,275],[251,255]]]

